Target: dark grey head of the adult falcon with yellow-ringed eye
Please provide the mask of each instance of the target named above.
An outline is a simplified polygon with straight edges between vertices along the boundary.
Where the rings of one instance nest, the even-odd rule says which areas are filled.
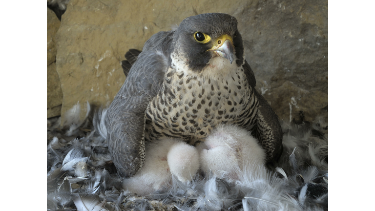
[[[191,71],[202,72],[208,66],[241,66],[244,63],[244,47],[237,20],[228,14],[206,13],[188,17],[180,23],[174,36],[174,54]]]

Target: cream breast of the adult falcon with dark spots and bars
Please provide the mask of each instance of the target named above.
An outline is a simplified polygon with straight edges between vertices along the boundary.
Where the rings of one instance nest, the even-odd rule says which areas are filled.
[[[247,83],[242,67],[215,75],[170,67],[163,87],[146,109],[146,141],[166,136],[194,144],[204,141],[219,124],[251,129],[258,106],[251,87],[244,85]]]

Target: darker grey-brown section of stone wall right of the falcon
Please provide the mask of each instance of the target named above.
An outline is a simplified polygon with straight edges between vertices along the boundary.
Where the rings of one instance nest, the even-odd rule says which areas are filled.
[[[328,1],[259,1],[233,14],[244,40],[257,89],[280,119],[328,119]]]

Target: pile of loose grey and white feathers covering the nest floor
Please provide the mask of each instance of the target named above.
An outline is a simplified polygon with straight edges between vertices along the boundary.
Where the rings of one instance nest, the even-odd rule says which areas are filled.
[[[231,174],[198,170],[188,182],[170,173],[171,185],[166,189],[137,195],[124,190],[126,180],[111,161],[105,141],[106,109],[89,115],[87,104],[81,122],[80,111],[79,104],[73,107],[62,124],[60,118],[47,120],[49,211],[328,210],[328,126],[321,118],[311,124],[281,123],[284,151],[267,168],[239,165]],[[190,147],[174,146],[176,150]]]

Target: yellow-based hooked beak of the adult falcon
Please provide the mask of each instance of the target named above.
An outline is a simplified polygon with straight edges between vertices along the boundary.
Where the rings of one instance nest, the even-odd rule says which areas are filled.
[[[230,63],[233,62],[233,40],[229,35],[222,35],[214,41],[214,44],[209,51],[214,51],[222,58],[226,58]]]

